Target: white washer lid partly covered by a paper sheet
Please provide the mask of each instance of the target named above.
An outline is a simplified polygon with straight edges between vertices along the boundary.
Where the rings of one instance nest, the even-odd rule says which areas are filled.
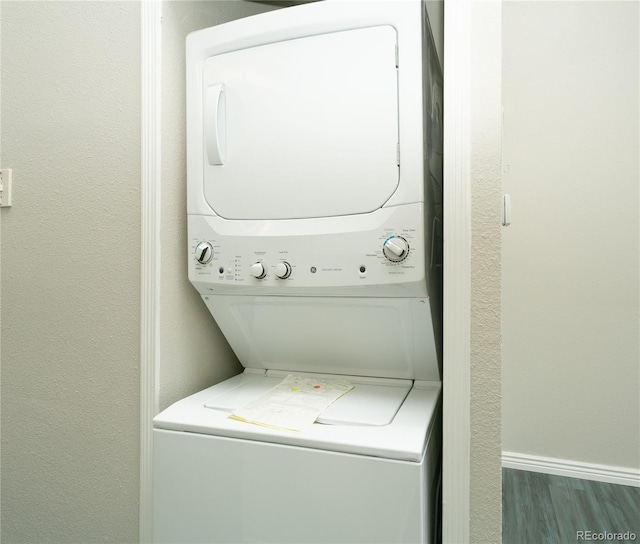
[[[233,412],[237,408],[252,402],[279,384],[287,376],[287,372],[269,370],[265,374],[252,374],[245,371],[245,380],[231,390],[214,395],[205,402],[206,408]],[[330,378],[326,374],[308,374],[296,372],[297,375]],[[411,380],[395,380],[385,378],[362,378],[336,376],[336,379],[347,380],[354,388],[340,397],[327,408],[316,420],[325,425],[388,425],[409,394],[413,382]]]

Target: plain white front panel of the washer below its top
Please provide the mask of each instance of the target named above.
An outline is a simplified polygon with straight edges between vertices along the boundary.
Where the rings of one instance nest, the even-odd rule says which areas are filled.
[[[429,542],[429,472],[424,459],[390,461],[156,429],[153,541]]]

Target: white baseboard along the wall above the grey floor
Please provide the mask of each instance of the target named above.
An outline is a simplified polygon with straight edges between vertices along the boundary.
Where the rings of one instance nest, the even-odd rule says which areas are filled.
[[[582,480],[594,480],[596,482],[609,482],[612,484],[630,485],[640,487],[640,470],[610,465],[597,465],[594,463],[582,463],[553,457],[541,457],[523,453],[502,452],[502,466],[528,470],[530,472],[543,472],[556,476],[580,478]]]

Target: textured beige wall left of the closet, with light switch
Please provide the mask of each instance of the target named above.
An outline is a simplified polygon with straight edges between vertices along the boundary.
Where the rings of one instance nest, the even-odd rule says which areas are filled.
[[[140,16],[2,3],[2,541],[138,537]]]

